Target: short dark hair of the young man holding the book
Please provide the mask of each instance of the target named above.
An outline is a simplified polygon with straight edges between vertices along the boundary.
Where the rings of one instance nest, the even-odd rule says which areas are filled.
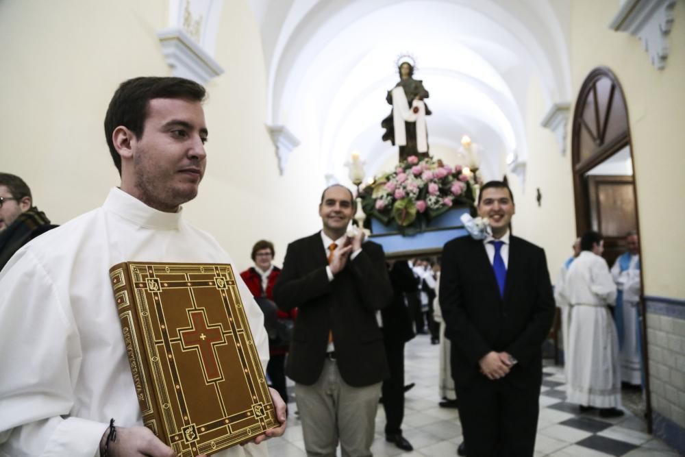
[[[197,82],[182,77],[135,77],[121,83],[110,101],[105,114],[105,139],[116,169],[121,175],[121,156],[114,148],[112,133],[123,125],[136,135],[142,136],[147,119],[149,101],[152,99],[186,99],[203,101],[206,90]]]

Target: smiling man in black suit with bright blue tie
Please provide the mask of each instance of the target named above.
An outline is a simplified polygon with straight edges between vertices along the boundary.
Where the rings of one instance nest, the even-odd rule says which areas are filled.
[[[514,197],[505,183],[486,183],[477,209],[492,234],[449,241],[440,277],[464,442],[469,456],[532,456],[554,316],[545,251],[510,234]]]

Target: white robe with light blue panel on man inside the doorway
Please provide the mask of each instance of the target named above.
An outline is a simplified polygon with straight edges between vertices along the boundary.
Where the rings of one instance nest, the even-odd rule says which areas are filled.
[[[638,306],[640,304],[640,270],[636,268],[639,255],[630,256],[630,267],[621,271],[619,259],[611,267],[611,275],[616,287],[623,291],[623,346],[619,349],[621,360],[621,380],[635,386],[642,384],[642,360],[638,340]]]

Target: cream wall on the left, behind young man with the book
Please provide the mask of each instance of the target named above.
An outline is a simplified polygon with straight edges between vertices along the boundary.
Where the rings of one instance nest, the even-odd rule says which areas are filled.
[[[103,118],[123,80],[171,75],[155,33],[166,1],[0,2],[0,169],[23,177],[56,223],[99,206],[119,184]],[[208,230],[239,269],[259,238],[286,244],[321,225],[319,182],[297,150],[279,176],[266,120],[258,25],[247,0],[224,3],[215,58],[225,69],[206,87],[208,171],[186,217]],[[305,228],[303,228],[305,227]],[[311,229],[311,230],[310,230]]]

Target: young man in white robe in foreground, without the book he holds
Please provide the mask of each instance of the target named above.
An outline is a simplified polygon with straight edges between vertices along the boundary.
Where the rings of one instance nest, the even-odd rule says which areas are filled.
[[[105,136],[121,175],[101,208],[40,236],[0,273],[0,456],[173,456],[142,426],[109,269],[128,260],[221,262],[216,240],[182,219],[206,165],[201,101],[187,79],[121,84]],[[262,365],[269,359],[263,316],[236,275]],[[272,389],[285,428],[285,404]],[[260,436],[217,456],[266,456]]]

